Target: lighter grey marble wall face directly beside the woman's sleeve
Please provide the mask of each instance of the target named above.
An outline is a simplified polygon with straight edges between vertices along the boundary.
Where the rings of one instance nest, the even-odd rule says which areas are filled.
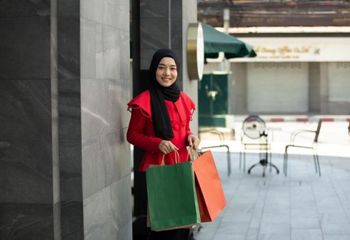
[[[81,1],[84,239],[132,239],[129,1]]]

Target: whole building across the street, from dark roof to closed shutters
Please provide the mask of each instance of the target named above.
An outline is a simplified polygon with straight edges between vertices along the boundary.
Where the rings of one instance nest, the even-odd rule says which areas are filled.
[[[224,31],[229,8],[228,34],[258,54],[205,66],[230,71],[230,114],[350,114],[348,1],[219,2],[199,1],[199,21]]]

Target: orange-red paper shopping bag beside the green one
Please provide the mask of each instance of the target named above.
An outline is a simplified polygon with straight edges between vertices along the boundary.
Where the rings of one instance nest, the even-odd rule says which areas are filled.
[[[193,157],[193,154],[192,158]],[[217,215],[225,208],[226,199],[223,187],[218,176],[212,152],[198,154],[192,160],[195,171],[197,199],[201,214],[201,221],[214,221]]]

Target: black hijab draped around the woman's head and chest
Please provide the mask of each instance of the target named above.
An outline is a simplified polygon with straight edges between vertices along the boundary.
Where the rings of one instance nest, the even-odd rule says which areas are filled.
[[[179,73],[180,65],[176,53],[171,51],[171,49],[159,49],[154,53],[151,65],[149,66],[149,77],[151,80],[149,93],[151,94],[151,109],[155,136],[158,136],[160,139],[171,140],[174,137],[174,133],[164,99],[173,102],[177,101],[180,97],[180,88],[177,86],[176,81],[168,87],[164,87],[157,82],[155,72],[157,71],[160,60],[165,57],[175,60],[177,73]]]

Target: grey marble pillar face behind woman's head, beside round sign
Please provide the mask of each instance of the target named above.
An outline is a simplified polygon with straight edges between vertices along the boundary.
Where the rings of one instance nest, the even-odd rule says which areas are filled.
[[[197,23],[197,1],[140,1],[140,69],[149,69],[153,53],[170,48],[182,60],[177,84],[197,102],[197,81],[188,77],[187,31]],[[193,115],[192,132],[198,132],[198,112]]]

